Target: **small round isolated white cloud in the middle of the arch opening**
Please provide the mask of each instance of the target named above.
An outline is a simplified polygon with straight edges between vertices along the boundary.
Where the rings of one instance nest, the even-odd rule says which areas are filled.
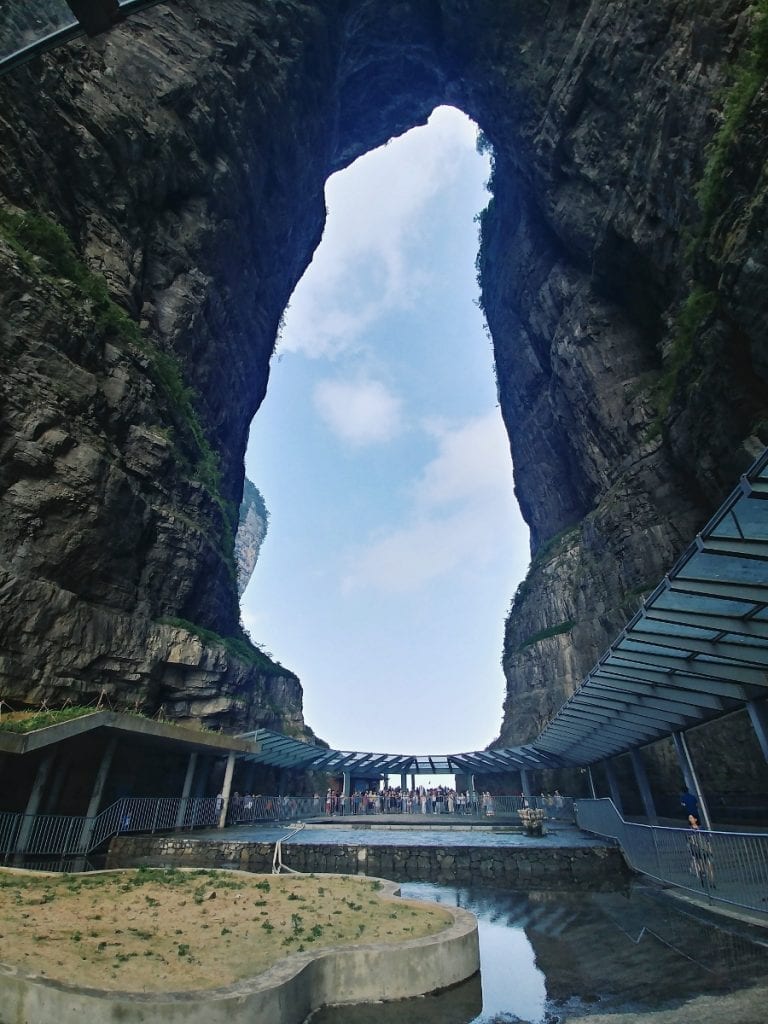
[[[402,403],[379,381],[323,380],[314,406],[336,436],[353,446],[389,441],[402,430]]]

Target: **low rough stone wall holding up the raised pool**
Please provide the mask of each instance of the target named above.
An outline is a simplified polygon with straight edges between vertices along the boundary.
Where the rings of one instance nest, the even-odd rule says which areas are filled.
[[[121,836],[108,867],[174,865],[270,871],[274,845],[175,836]],[[509,887],[624,884],[629,870],[613,847],[439,847],[286,844],[283,863],[299,871],[373,874],[395,882],[494,882]]]

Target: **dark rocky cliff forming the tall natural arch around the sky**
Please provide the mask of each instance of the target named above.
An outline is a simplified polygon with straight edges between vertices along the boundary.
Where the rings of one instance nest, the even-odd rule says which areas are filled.
[[[761,46],[748,0],[179,0],[0,82],[6,697],[202,688],[240,726],[281,678],[300,728],[295,677],[210,639],[239,635],[248,428],[327,176],[450,102],[495,152],[482,296],[535,554],[501,739],[530,738],[767,439]]]

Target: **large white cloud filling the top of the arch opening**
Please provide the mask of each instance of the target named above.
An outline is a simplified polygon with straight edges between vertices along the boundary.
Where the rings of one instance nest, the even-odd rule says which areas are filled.
[[[386,310],[416,301],[427,271],[412,263],[410,247],[430,201],[451,187],[465,162],[476,164],[474,139],[465,115],[438,108],[428,129],[414,129],[329,179],[323,246],[291,299],[282,351],[334,357],[354,349]]]

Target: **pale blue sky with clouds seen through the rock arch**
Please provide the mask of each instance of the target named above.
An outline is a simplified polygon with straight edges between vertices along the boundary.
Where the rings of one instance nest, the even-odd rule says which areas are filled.
[[[342,750],[476,750],[501,724],[528,534],[475,304],[475,134],[440,108],[329,180],[251,428],[270,523],[243,622]]]

